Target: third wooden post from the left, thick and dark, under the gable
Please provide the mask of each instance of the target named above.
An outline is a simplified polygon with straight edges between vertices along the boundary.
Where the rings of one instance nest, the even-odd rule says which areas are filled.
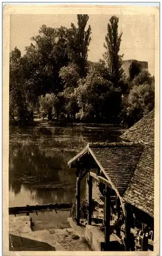
[[[104,235],[104,243],[105,243],[105,251],[109,249],[110,244],[110,206],[111,206],[111,197],[110,197],[110,187],[105,186],[104,191],[105,198],[105,212],[104,212],[104,225],[105,225],[105,235]]]

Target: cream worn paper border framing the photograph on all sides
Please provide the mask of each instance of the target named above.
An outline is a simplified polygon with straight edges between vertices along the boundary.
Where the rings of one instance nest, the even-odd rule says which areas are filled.
[[[10,14],[154,14],[155,15],[155,199],[154,199],[154,236],[153,252],[98,252],[87,255],[159,255],[159,8],[137,6],[104,5],[5,5],[3,12],[3,248],[4,255],[85,255],[74,251],[9,251],[9,52],[10,52]]]

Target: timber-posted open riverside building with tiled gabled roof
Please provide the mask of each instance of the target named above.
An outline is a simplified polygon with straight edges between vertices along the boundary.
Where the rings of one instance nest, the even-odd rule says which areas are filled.
[[[117,250],[112,236],[123,245],[119,250],[153,250],[154,110],[121,139],[117,143],[88,143],[68,162],[76,173],[76,223],[80,225],[80,183],[87,175],[87,229],[94,225],[93,179],[98,181],[103,197],[104,217],[97,226],[104,236],[104,241],[99,240],[100,250]]]

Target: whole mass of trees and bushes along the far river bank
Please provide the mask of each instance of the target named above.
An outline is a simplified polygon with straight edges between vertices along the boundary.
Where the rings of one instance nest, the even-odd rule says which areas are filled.
[[[21,56],[10,52],[10,119],[31,125],[34,113],[65,123],[119,123],[130,127],[154,108],[154,76],[132,61],[129,77],[122,68],[122,32],[112,16],[98,62],[88,60],[89,16],[77,15],[77,26],[42,25]],[[97,49],[96,49],[97,50]]]

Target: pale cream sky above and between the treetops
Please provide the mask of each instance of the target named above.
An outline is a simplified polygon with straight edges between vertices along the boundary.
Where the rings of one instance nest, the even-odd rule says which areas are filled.
[[[113,14],[112,14],[113,15]],[[112,15],[89,15],[88,25],[91,25],[92,34],[88,59],[97,61],[104,53],[103,43],[107,33],[107,24]],[[120,14],[119,32],[122,31],[120,54],[124,54],[123,60],[137,59],[148,62],[148,70],[154,75],[155,66],[155,29],[154,15],[126,15]],[[77,26],[77,16],[71,14],[11,14],[10,16],[10,51],[15,46],[23,55],[25,46],[31,44],[30,38],[39,33],[42,25],[57,28],[70,24]]]

